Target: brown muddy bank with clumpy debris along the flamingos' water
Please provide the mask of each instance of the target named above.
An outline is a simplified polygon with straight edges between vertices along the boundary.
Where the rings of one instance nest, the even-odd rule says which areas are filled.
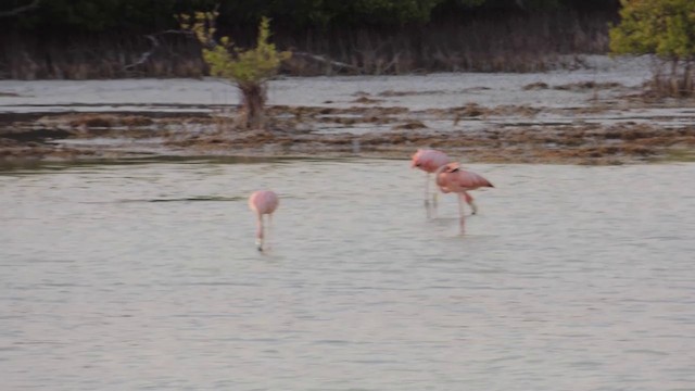
[[[238,129],[233,108],[219,106],[198,113],[4,113],[0,160],[407,157],[417,148],[485,163],[624,164],[695,157],[693,124],[605,121],[616,115],[610,104],[556,109],[470,103],[409,110],[375,105],[379,98],[362,94],[348,108],[273,105],[264,130]],[[592,121],[601,115],[602,121]]]

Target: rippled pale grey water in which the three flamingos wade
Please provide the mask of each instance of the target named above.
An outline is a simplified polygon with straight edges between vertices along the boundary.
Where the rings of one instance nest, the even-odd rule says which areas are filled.
[[[692,389],[694,164],[470,168],[464,236],[399,160],[1,172],[2,388]]]

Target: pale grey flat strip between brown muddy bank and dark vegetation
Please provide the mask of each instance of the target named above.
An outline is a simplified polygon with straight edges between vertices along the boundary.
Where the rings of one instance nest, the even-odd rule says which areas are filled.
[[[478,103],[483,106],[530,105],[548,108],[591,106],[595,99],[614,99],[621,89],[526,90],[534,83],[551,87],[573,83],[618,83],[635,88],[650,75],[646,58],[584,56],[590,68],[544,73],[437,73],[400,76],[286,77],[269,81],[268,104],[353,106],[363,93],[381,106],[409,110],[445,109]],[[201,111],[210,105],[238,104],[239,94],[228,83],[205,79],[115,80],[0,80],[0,113]],[[386,94],[386,96],[384,96]],[[181,105],[192,105],[185,106]],[[370,104],[369,104],[370,105]],[[369,106],[366,105],[366,106]]]

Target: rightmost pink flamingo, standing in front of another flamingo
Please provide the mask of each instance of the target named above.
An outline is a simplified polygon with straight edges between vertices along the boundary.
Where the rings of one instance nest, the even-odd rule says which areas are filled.
[[[478,206],[473,202],[473,198],[468,193],[469,190],[476,190],[481,187],[494,187],[488,179],[482,176],[467,172],[460,167],[459,163],[448,163],[439,167],[435,172],[437,185],[443,193],[458,193],[458,214],[460,216],[462,230],[464,228],[464,204],[466,201],[472,209],[472,214],[478,212]]]

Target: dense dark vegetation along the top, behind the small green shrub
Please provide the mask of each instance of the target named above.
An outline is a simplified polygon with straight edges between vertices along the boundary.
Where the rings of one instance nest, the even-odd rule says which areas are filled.
[[[241,47],[269,16],[283,72],[542,71],[604,53],[618,0],[3,0],[0,78],[199,77],[175,15],[219,11]]]

